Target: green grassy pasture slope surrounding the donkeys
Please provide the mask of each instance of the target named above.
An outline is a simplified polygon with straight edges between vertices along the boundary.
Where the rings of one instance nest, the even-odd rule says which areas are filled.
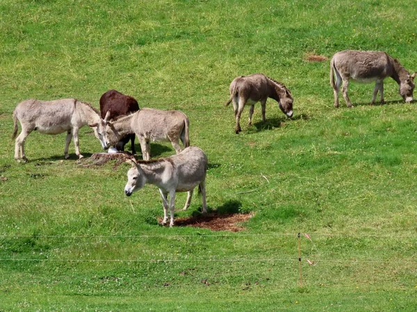
[[[0,12],[0,311],[417,309],[416,103],[386,80],[386,105],[352,83],[355,107],[335,109],[329,62],[307,60],[383,50],[416,70],[414,3],[3,0]],[[257,106],[248,126],[245,109],[235,135],[229,84],[257,72],[291,89],[294,116],[268,100],[267,121]],[[124,196],[129,165],[89,162],[88,127],[81,161],[73,144],[64,160],[64,134],[35,132],[29,162],[13,160],[17,103],[99,107],[108,89],[188,115],[208,207],[253,214],[243,232],[158,225],[157,189]],[[173,153],[152,144],[152,157]],[[195,196],[176,216],[200,209]]]

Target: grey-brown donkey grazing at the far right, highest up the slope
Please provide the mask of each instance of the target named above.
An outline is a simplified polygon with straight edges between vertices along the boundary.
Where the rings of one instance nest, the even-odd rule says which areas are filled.
[[[334,76],[336,75],[336,83]],[[400,95],[406,103],[413,101],[414,77],[402,67],[398,60],[382,51],[354,51],[345,50],[333,55],[330,61],[330,85],[334,90],[334,107],[338,107],[338,92],[343,82],[342,92],[347,107],[352,107],[347,87],[349,80],[357,80],[361,83],[375,81],[371,105],[375,104],[375,98],[379,91],[381,103],[384,103],[384,79],[393,78],[400,86]]]

